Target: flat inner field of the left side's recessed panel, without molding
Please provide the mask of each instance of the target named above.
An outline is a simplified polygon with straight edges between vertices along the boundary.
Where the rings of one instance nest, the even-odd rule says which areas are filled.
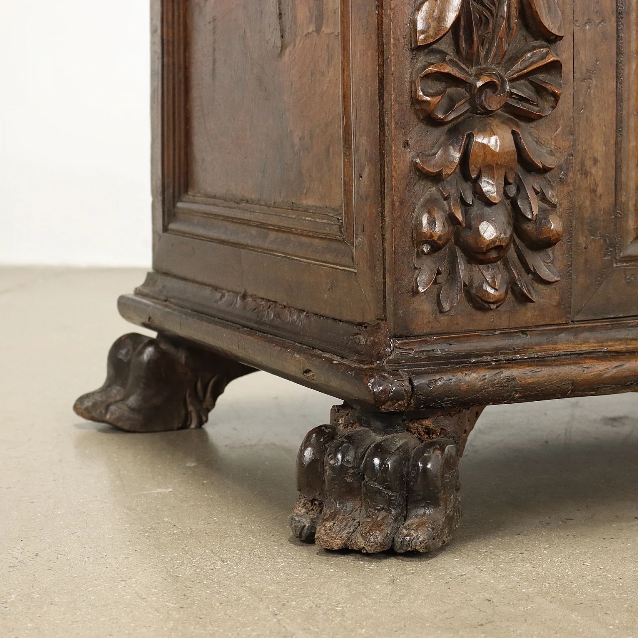
[[[339,0],[189,0],[188,192],[340,212]]]

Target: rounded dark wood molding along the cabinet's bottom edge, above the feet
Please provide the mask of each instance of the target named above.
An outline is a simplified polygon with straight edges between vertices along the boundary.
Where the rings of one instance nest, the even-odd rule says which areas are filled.
[[[618,322],[610,324],[614,338],[611,346],[604,346],[599,337],[594,348],[578,355],[569,353],[568,345],[574,341],[569,339],[570,326],[565,326],[560,329],[565,335],[567,354],[556,343],[552,352],[535,357],[517,352],[512,345],[510,357],[503,355],[489,363],[472,360],[471,353],[465,359],[459,353],[456,360],[432,357],[427,362],[417,359],[408,363],[402,359],[397,363],[392,356],[385,356],[366,363],[184,309],[169,300],[124,295],[119,299],[119,311],[137,325],[197,341],[229,359],[381,412],[418,416],[433,408],[521,403],[638,389],[636,322],[627,322],[625,327],[619,327]],[[604,330],[600,323],[596,325]],[[573,329],[582,330],[582,326],[574,325]],[[621,340],[623,332],[619,330],[632,339]],[[525,340],[521,336],[523,343]]]

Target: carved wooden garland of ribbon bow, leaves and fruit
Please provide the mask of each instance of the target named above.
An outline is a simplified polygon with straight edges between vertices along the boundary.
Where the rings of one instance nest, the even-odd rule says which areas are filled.
[[[562,67],[549,47],[509,52],[519,12],[531,33],[563,36],[556,0],[426,0],[414,15],[415,47],[454,27],[458,51],[429,48],[413,85],[424,119],[444,127],[436,146],[415,160],[436,186],[413,225],[415,290],[441,285],[443,312],[464,290],[477,308],[496,309],[510,286],[534,301],[532,275],[560,279],[551,247],[563,230],[545,175],[556,161],[528,128],[556,108]]]

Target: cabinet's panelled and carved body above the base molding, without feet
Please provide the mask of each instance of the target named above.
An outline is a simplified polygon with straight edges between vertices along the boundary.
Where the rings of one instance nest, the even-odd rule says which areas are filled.
[[[630,3],[153,6],[156,271],[390,339],[638,313]]]

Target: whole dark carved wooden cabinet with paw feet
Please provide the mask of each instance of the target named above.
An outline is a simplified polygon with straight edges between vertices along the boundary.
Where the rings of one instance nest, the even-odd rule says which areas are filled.
[[[637,34],[629,0],[153,0],[153,270],[119,310],[158,336],[75,410],[199,427],[284,376],[344,401],[293,534],[441,547],[482,406],[638,383]]]

